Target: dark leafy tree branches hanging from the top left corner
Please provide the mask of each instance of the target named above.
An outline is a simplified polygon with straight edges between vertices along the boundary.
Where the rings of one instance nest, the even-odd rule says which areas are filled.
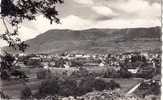
[[[7,41],[9,47],[24,52],[28,45],[18,38],[18,25],[25,19],[36,20],[39,14],[49,19],[51,24],[53,21],[60,23],[56,10],[58,3],[63,3],[63,0],[1,0],[0,15],[6,31],[1,33],[0,38]],[[12,26],[12,31],[7,23]]]

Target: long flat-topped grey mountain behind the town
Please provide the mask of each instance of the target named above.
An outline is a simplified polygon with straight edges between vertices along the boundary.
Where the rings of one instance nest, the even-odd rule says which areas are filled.
[[[161,48],[161,28],[49,30],[26,43],[27,53],[156,50]]]

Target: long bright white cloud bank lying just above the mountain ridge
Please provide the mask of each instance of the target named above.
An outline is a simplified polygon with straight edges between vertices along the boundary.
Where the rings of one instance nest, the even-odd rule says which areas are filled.
[[[49,29],[72,29],[72,30],[84,30],[89,28],[134,28],[134,27],[153,27],[160,26],[159,19],[124,19],[124,18],[112,18],[105,20],[88,20],[76,15],[69,15],[62,18],[62,24],[47,24],[49,20],[39,16],[38,21],[35,22],[35,26],[39,32],[45,32]]]

